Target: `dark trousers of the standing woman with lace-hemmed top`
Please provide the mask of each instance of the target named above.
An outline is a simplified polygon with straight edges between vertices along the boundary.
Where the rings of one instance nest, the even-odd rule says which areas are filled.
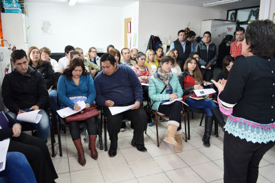
[[[275,145],[275,142],[252,143],[228,134],[223,138],[223,161],[225,183],[256,183],[259,163],[263,155]]]

